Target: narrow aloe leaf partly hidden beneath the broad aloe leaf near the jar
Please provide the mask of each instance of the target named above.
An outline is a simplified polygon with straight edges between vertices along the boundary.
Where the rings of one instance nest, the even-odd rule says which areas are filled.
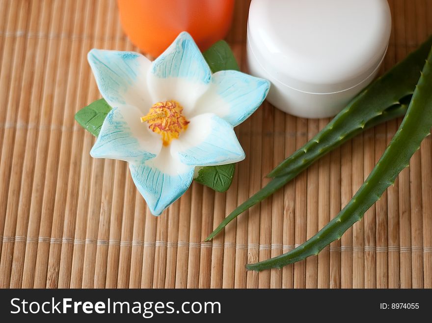
[[[408,106],[406,104],[398,104],[387,110],[385,110],[382,115],[373,118],[368,123],[366,123],[364,129],[357,129],[355,132],[352,132],[349,136],[344,138],[344,142],[356,136],[363,130],[372,128],[380,123],[386,122],[388,120],[392,120],[397,117],[402,117],[405,115]],[[312,162],[306,164],[304,168],[309,167]],[[213,239],[223,228],[226,227],[228,223],[234,220],[237,216],[247,210],[249,207],[254,206],[255,204],[261,202],[265,198],[269,197],[271,194],[276,192],[278,189],[282,188],[286,183],[296,177],[299,173],[301,173],[304,168],[294,170],[293,172],[283,175],[277,176],[270,180],[270,182],[260,189],[257,193],[255,193],[252,197],[246,200],[243,204],[238,206],[234,211],[232,211],[223,221],[219,224],[219,226],[205,239],[205,241],[209,241]]]

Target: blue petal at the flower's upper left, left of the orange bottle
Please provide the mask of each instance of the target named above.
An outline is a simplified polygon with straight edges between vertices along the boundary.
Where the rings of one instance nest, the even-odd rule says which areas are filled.
[[[151,62],[134,52],[92,49],[87,55],[99,91],[112,107],[150,106],[147,71]]]

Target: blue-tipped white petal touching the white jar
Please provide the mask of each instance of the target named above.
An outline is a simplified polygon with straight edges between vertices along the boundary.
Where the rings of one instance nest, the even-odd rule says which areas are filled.
[[[270,82],[237,71],[212,76],[210,89],[199,98],[194,115],[214,113],[237,126],[263,103]]]

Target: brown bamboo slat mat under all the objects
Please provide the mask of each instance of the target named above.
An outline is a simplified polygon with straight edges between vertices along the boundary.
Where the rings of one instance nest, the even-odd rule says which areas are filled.
[[[389,3],[383,70],[432,33],[432,0]],[[227,36],[243,71],[248,5],[237,1]],[[126,163],[91,158],[94,137],[74,120],[100,97],[86,60],[93,47],[136,51],[115,1],[0,0],[0,287],[432,288],[431,137],[339,241],[282,270],[246,272],[244,264],[293,249],[335,216],[401,120],[334,150],[202,243],[329,119],[264,103],[236,128],[247,157],[228,192],[193,183],[154,217]]]

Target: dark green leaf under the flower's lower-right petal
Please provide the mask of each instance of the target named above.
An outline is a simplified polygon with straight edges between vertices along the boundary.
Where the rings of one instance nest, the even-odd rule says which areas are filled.
[[[234,164],[206,166],[198,172],[195,180],[217,192],[225,192],[231,186],[235,168]]]

